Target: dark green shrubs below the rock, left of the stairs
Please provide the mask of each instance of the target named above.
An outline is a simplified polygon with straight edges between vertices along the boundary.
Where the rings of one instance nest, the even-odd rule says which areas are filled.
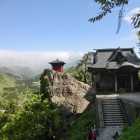
[[[84,140],[86,139],[87,127],[93,127],[96,124],[95,113],[86,111],[76,121],[72,123],[72,126],[68,132],[68,140]]]

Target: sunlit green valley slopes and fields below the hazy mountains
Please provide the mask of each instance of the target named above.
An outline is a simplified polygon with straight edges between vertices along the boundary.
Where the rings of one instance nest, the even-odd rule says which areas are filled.
[[[30,93],[39,91],[39,84],[33,84],[39,81],[39,77],[40,75],[37,75],[30,80],[22,80],[0,72],[0,109],[5,109],[13,99],[23,102]]]

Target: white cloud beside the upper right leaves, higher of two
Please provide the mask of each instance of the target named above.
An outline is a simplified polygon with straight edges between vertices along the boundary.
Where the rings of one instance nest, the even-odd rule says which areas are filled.
[[[140,11],[140,8],[139,8],[139,7],[134,8],[134,9],[130,10],[128,13],[126,13],[126,16],[125,16],[123,19],[126,20],[126,21],[129,22],[129,23],[132,23],[131,18],[132,18],[135,14],[139,13],[139,11]]]

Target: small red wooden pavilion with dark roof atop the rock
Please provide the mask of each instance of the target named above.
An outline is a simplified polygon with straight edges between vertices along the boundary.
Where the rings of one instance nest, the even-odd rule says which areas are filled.
[[[58,60],[58,58],[57,58],[55,61],[52,61],[49,64],[52,65],[53,70],[63,73],[63,66],[66,63],[64,63],[63,61]]]

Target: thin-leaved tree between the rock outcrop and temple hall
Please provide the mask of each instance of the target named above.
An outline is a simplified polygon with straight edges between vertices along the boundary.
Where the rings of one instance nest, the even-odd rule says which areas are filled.
[[[76,70],[83,75],[85,83],[87,83],[87,77],[90,77],[90,73],[88,73],[88,66],[93,64],[93,54],[94,52],[88,52],[84,54],[82,60],[77,62]]]

